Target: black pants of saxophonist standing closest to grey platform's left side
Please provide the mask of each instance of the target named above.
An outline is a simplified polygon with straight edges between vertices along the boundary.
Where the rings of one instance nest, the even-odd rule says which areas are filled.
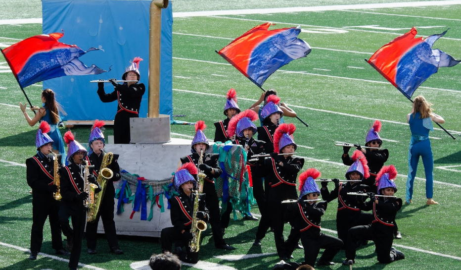
[[[112,185],[112,182],[108,183]],[[87,223],[87,246],[89,249],[96,249],[96,239],[97,239],[97,224],[99,222],[99,217],[102,219],[102,225],[104,226],[104,233],[109,244],[109,249],[118,248],[117,233],[115,230],[115,221],[114,221],[114,198],[111,194],[104,194],[104,197],[101,202],[99,209],[99,214],[97,215],[94,222]]]

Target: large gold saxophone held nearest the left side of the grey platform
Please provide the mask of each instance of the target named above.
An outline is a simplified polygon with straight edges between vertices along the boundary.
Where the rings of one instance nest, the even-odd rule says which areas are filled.
[[[102,198],[104,197],[104,192],[107,187],[107,180],[114,176],[114,172],[107,167],[108,165],[110,165],[110,163],[112,163],[112,160],[114,159],[114,154],[112,152],[104,153],[102,149],[101,153],[104,156],[102,157],[101,167],[99,169],[99,174],[97,175],[96,179],[96,181],[101,186],[101,191],[94,195],[94,207],[88,210],[88,222],[94,222],[96,220],[97,214],[99,213],[99,208],[101,206]]]

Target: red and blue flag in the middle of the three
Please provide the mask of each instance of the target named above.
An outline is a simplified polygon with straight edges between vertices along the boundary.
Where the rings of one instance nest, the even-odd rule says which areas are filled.
[[[271,25],[254,27],[218,52],[259,87],[281,66],[311,52],[309,44],[298,39],[299,26],[268,30]]]

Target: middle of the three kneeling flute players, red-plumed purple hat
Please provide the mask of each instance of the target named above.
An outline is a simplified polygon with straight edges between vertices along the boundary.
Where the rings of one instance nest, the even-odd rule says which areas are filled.
[[[364,154],[356,150],[352,155],[354,163],[346,171],[347,180],[362,180],[369,177],[369,167]],[[333,179],[334,189],[328,192],[328,182],[322,183],[322,199],[331,202],[338,198],[338,212],[336,213],[336,229],[338,238],[347,244],[347,231],[358,225],[370,224],[373,215],[361,211],[363,196],[347,195],[348,192],[367,192],[369,186],[362,182],[340,183],[338,179]],[[356,243],[357,244],[357,243]]]

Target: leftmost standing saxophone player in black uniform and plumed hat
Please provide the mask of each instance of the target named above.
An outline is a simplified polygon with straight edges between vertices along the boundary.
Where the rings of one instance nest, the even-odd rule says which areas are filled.
[[[26,160],[27,184],[32,188],[32,230],[31,230],[31,255],[29,259],[36,260],[42,248],[43,226],[46,217],[51,228],[51,247],[58,255],[70,255],[63,246],[61,227],[59,225],[59,202],[53,197],[58,190],[54,181],[54,161],[51,155],[53,140],[46,134],[50,127],[46,121],[40,123],[37,131],[37,154]],[[59,166],[62,166],[60,155],[57,156]]]

